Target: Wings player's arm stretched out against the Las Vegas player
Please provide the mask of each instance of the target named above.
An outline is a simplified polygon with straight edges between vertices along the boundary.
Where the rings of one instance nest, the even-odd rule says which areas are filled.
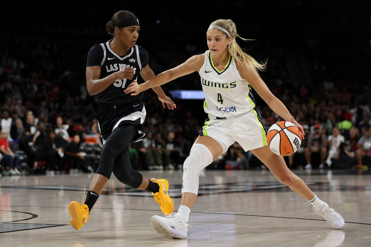
[[[168,83],[169,81],[175,80],[178,77],[185,76],[187,74],[193,73],[194,71],[199,71],[204,63],[205,54],[195,55],[190,57],[187,61],[180,64],[179,66],[166,70],[161,74],[158,74],[149,81],[142,84],[131,83],[127,89],[126,93],[135,96],[144,90],[150,89],[151,87],[160,86],[162,84]]]

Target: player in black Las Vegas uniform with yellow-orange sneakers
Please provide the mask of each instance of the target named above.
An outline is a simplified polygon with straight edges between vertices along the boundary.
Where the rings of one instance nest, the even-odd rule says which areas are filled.
[[[98,94],[98,127],[104,148],[85,202],[80,205],[72,201],[68,205],[72,216],[70,224],[76,230],[89,220],[89,212],[112,172],[128,186],[151,191],[164,214],[171,214],[174,209],[173,200],[167,193],[167,180],[145,178],[132,170],[129,160],[129,143],[145,138],[146,131],[142,124],[146,111],[142,94],[132,97],[124,90],[139,74],[145,81],[155,76],[148,66],[147,51],[135,45],[140,29],[139,20],[130,11],[121,10],[114,14],[106,29],[113,39],[95,44],[89,50],[86,64],[88,92],[90,95]],[[154,91],[164,108],[176,107],[161,87],[154,88]]]

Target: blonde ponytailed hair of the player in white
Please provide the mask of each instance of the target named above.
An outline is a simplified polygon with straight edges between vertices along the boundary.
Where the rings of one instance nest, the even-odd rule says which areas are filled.
[[[244,39],[238,35],[236,24],[234,24],[232,20],[219,19],[213,21],[210,26],[219,26],[229,32],[230,36],[232,37],[232,41],[227,46],[227,49],[229,54],[234,58],[234,60],[236,60],[236,62],[240,62],[245,69],[256,70],[256,72],[259,72],[259,70],[265,70],[267,62],[262,64],[258,63],[252,56],[244,53],[241,47],[237,44],[236,37],[239,37],[244,41],[249,41],[249,39]],[[227,38],[229,37],[227,36]]]

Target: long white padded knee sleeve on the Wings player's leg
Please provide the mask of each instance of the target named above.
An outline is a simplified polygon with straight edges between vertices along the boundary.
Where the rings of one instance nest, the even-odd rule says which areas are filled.
[[[182,193],[198,193],[198,177],[203,168],[213,162],[213,155],[205,145],[196,143],[192,146],[189,156],[183,164]]]

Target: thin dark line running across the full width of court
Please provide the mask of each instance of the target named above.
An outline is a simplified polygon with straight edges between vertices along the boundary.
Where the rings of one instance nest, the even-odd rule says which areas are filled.
[[[9,206],[9,205],[0,205],[0,207],[56,207],[56,208],[65,208],[60,206]],[[161,211],[158,209],[150,210],[150,209],[138,209],[138,208],[106,208],[106,207],[95,207],[96,209],[111,209],[111,210],[139,210],[139,211]],[[7,210],[1,210],[7,211]],[[254,215],[254,214],[234,214],[234,213],[213,213],[213,212],[194,212],[191,213],[198,213],[198,214],[224,214],[224,215],[237,215],[237,216],[255,216],[255,217],[269,217],[269,218],[284,218],[284,219],[293,219],[293,220],[319,220],[319,219],[308,219],[308,218],[294,218],[294,217],[283,217],[283,216],[266,216],[266,215]],[[326,221],[326,220],[319,220],[319,221]],[[352,223],[352,224],[362,224],[362,225],[370,225],[371,223],[360,223],[360,222],[351,222],[345,221],[345,223]],[[65,225],[67,226],[67,225]]]

